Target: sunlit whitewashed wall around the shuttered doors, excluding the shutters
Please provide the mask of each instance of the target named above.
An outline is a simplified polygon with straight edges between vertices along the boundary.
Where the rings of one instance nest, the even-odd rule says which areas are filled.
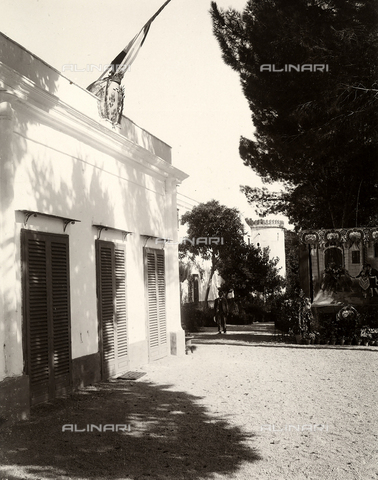
[[[124,239],[107,230],[101,239],[126,244],[130,350],[139,345],[134,365],[147,361],[143,247],[156,248],[148,236],[177,241],[176,185],[187,175],[172,166],[167,144],[125,117],[115,128],[100,120],[93,95],[3,35],[0,60],[0,381],[23,370],[21,229],[63,233],[62,221],[48,216],[32,216],[25,226],[21,210],[80,221],[65,232],[73,359],[98,351],[93,224],[132,232]],[[172,247],[166,297],[168,332],[180,334]]]

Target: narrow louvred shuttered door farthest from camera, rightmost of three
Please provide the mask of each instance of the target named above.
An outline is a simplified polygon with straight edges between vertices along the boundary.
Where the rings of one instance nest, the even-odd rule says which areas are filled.
[[[145,249],[148,311],[148,345],[150,360],[167,355],[164,252]]]

